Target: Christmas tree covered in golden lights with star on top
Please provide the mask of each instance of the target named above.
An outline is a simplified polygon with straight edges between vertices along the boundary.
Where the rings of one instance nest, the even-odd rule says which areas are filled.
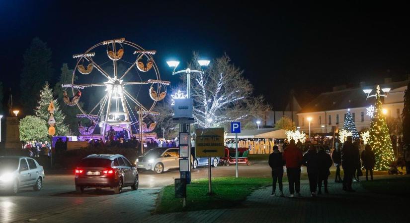
[[[374,112],[369,130],[369,145],[373,148],[376,157],[375,170],[387,170],[394,160],[392,141],[389,128],[382,112],[382,101],[380,100],[380,87],[376,89],[376,110]]]

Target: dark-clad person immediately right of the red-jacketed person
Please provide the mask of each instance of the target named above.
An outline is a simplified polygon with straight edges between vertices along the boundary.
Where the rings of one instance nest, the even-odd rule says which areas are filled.
[[[316,147],[309,146],[308,152],[303,156],[303,164],[308,169],[308,178],[311,196],[316,196],[316,188],[318,187],[319,161]]]

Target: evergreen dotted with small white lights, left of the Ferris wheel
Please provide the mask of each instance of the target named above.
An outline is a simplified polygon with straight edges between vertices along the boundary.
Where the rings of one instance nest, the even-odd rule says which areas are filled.
[[[50,116],[49,111],[47,111],[50,102],[54,102],[54,107],[56,111],[54,111],[54,119],[56,119],[56,135],[67,135],[68,134],[68,126],[64,122],[66,115],[60,110],[60,105],[58,104],[57,100],[54,99],[53,96],[53,89],[50,88],[48,83],[44,85],[43,89],[40,90],[40,101],[35,109],[36,116],[48,122],[48,118]]]

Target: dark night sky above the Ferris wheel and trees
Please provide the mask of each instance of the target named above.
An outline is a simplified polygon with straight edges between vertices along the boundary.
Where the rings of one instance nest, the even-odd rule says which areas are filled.
[[[410,73],[407,5],[369,2],[0,0],[0,80],[18,96],[22,55],[34,37],[52,49],[52,84],[63,62],[73,68],[73,54],[125,37],[157,50],[162,79],[173,82],[178,79],[170,77],[166,59],[226,52],[245,70],[255,94],[281,110],[291,88],[303,103],[335,85]]]

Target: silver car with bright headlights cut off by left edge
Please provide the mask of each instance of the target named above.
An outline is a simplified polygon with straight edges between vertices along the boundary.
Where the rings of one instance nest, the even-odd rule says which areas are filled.
[[[16,194],[20,188],[33,187],[38,191],[43,186],[44,169],[29,157],[0,157],[0,190]]]

